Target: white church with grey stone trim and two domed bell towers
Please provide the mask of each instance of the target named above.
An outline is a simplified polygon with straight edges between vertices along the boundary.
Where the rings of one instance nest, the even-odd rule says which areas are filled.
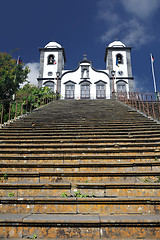
[[[61,99],[110,99],[115,92],[132,92],[131,47],[114,41],[106,47],[106,69],[96,70],[84,58],[74,70],[65,70],[65,50],[57,42],[40,48],[38,86],[50,87]]]

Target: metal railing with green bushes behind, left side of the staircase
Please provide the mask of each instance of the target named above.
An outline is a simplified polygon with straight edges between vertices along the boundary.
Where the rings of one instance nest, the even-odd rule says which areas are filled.
[[[53,96],[28,96],[0,100],[0,127],[55,100]]]

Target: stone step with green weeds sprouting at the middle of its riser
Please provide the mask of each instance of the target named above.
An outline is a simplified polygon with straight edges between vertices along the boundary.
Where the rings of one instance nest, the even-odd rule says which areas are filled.
[[[151,179],[152,181],[153,179]],[[149,177],[136,179],[137,183],[0,183],[0,197],[160,197],[160,184]],[[159,181],[159,178],[158,178]],[[77,192],[77,195],[76,195]],[[2,202],[3,204],[3,199]]]

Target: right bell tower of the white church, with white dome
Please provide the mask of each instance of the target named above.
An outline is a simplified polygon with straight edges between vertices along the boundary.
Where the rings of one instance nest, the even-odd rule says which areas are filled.
[[[106,70],[110,76],[111,94],[114,92],[132,92],[133,76],[131,66],[131,47],[121,41],[114,41],[106,47]]]

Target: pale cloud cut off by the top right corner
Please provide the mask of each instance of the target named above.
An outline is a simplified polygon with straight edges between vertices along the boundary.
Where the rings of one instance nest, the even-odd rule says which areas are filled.
[[[123,7],[141,19],[150,17],[160,7],[159,0],[121,0]]]

